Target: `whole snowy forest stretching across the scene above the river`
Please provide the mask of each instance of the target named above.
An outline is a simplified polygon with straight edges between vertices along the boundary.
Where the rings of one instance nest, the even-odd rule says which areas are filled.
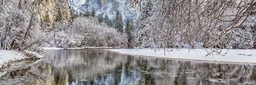
[[[79,0],[78,0],[79,1]],[[73,0],[0,0],[0,48],[256,46],[256,0],[127,0],[137,19],[76,11]],[[100,3],[103,4],[103,3]]]

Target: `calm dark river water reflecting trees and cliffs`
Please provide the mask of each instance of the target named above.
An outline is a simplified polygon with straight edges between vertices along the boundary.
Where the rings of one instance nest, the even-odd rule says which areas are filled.
[[[256,84],[256,65],[130,56],[104,49],[47,51],[44,56],[0,71],[0,85]]]

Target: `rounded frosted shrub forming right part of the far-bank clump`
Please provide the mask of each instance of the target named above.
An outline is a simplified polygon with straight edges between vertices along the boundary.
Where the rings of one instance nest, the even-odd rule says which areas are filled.
[[[83,44],[85,46],[95,47],[125,47],[126,38],[123,34],[119,33],[115,28],[108,27],[106,24],[97,24],[96,19],[93,17],[79,17],[75,22],[76,29],[82,29],[79,32],[84,35]],[[74,26],[74,25],[73,25]]]

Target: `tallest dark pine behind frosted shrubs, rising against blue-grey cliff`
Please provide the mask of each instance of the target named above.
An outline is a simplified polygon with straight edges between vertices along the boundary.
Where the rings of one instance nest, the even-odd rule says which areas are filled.
[[[122,14],[117,10],[116,18],[115,18],[115,28],[122,34],[123,31],[123,22],[122,22]]]

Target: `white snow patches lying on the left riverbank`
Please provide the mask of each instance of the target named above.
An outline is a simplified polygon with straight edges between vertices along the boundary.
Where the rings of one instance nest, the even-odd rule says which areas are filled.
[[[39,55],[32,51],[24,51],[27,54],[33,54],[35,57],[43,58],[42,55]],[[16,60],[22,60],[25,59],[26,56],[24,56],[23,53],[19,51],[13,51],[13,50],[0,50],[0,68],[2,68],[3,65],[6,65],[6,63],[10,61],[16,61]]]

